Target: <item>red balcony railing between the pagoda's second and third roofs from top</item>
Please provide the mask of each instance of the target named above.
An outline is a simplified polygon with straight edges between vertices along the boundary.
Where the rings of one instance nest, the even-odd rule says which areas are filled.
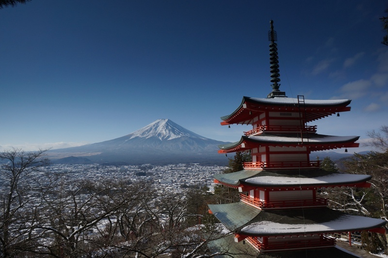
[[[263,168],[309,168],[320,167],[321,161],[257,161],[244,162],[244,169],[263,169]]]

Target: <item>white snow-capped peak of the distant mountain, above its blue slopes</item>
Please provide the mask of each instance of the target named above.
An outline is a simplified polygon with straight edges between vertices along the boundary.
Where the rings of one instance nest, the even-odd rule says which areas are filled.
[[[179,137],[194,137],[206,139],[189,131],[169,119],[158,119],[147,126],[129,134],[129,139],[157,137],[160,140],[171,140]]]

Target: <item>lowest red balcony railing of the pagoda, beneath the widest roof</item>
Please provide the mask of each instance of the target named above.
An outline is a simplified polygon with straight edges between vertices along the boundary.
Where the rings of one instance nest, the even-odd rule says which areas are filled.
[[[278,237],[283,238],[283,237]],[[253,246],[261,251],[277,251],[284,249],[305,249],[306,247],[323,247],[323,246],[335,246],[336,238],[329,237],[326,235],[321,235],[320,239],[304,239],[304,236],[292,236],[292,238],[287,239],[284,242],[277,243],[267,243],[263,244],[254,237],[247,237]]]

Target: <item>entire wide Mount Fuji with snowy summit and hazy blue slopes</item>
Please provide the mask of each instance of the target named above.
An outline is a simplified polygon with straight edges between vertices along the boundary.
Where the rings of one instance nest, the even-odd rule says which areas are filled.
[[[123,137],[65,149],[50,150],[53,163],[227,165],[217,153],[226,142],[202,137],[169,119],[159,119]],[[78,158],[78,159],[77,159]],[[85,159],[86,158],[86,159]]]

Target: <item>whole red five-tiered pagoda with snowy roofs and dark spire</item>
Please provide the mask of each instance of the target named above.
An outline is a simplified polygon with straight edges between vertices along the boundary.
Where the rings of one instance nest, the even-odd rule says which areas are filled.
[[[307,123],[350,111],[351,100],[289,98],[279,91],[276,32],[269,31],[271,82],[267,98],[243,97],[222,125],[251,124],[237,142],[221,145],[220,153],[250,152],[252,162],[242,171],[215,175],[215,182],[238,188],[240,201],[209,205],[237,243],[248,242],[266,254],[333,247],[328,234],[370,230],[383,232],[384,220],[331,210],[327,199],[317,197],[326,187],[370,187],[369,175],[339,174],[320,169],[310,160],[314,151],[358,147],[357,136],[317,134]],[[346,149],[345,149],[346,150]]]

